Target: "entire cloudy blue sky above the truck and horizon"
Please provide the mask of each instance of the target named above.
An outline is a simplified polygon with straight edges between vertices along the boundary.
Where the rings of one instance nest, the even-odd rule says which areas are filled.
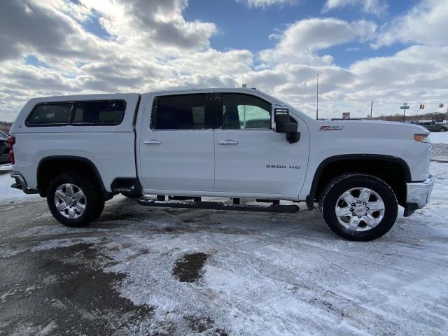
[[[446,112],[447,18],[447,0],[0,1],[0,120],[31,97],[243,83],[315,116],[316,73],[321,118]]]

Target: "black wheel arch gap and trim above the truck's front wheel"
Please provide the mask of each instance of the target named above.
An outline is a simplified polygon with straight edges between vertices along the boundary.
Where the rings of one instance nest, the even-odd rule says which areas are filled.
[[[340,174],[356,172],[370,174],[386,181],[397,196],[399,204],[404,204],[406,182],[412,181],[405,160],[391,155],[347,154],[331,156],[318,165],[309,195],[306,197],[308,209],[313,209],[314,201],[318,200],[329,181]]]

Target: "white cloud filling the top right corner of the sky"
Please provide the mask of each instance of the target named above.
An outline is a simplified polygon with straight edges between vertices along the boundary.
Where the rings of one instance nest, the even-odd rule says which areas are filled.
[[[447,0],[423,0],[381,30],[375,48],[400,43],[448,44]]]

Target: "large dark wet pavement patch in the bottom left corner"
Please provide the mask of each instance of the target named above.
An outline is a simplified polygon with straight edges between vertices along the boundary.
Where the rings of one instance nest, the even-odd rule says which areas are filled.
[[[90,244],[0,258],[0,335],[45,328],[51,335],[123,335],[151,321],[151,307],[114,289],[125,275],[102,272],[97,263],[101,255]]]

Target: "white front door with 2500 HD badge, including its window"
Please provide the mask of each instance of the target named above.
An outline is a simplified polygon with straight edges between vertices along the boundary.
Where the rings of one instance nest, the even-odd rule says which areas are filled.
[[[302,137],[290,144],[285,134],[271,129],[269,102],[251,94],[223,93],[221,97],[222,126],[214,133],[215,191],[297,198],[309,152],[304,123],[295,120]]]

